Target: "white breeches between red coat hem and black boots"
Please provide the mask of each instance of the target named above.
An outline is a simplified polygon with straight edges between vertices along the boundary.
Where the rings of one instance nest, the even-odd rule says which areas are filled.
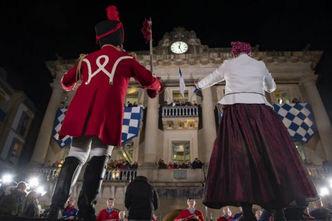
[[[97,136],[73,137],[68,157],[75,157],[83,164],[94,156],[111,156],[113,146],[104,144]]]

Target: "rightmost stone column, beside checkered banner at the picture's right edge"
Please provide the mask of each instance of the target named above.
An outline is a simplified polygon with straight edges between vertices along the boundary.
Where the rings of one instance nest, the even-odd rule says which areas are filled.
[[[326,158],[332,161],[332,126],[323,101],[316,87],[317,76],[303,77],[300,86],[304,86],[309,104],[313,110],[316,127],[321,138]]]

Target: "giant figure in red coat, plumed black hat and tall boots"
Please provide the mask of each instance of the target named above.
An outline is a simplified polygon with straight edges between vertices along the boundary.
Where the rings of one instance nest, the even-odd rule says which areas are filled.
[[[163,91],[160,78],[123,52],[124,31],[115,6],[107,8],[109,20],[95,26],[100,50],[81,55],[78,63],[63,76],[67,91],[77,83],[60,130],[59,139],[72,136],[68,157],[61,168],[52,196],[49,218],[61,219],[63,207],[87,161],[77,205],[79,220],[95,220],[97,202],[107,161],[113,146],[121,146],[124,101],[130,78],[147,89],[153,98]]]

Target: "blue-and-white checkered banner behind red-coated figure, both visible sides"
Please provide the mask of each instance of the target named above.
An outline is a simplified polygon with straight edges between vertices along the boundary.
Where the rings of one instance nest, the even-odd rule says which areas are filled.
[[[60,148],[66,147],[71,143],[71,136],[66,136],[62,140],[58,140],[59,131],[64,121],[67,109],[58,109],[57,116],[54,122],[52,138],[57,142]],[[143,108],[141,107],[126,107],[124,113],[124,119],[122,123],[122,143],[132,140],[138,136],[139,123],[142,117]]]

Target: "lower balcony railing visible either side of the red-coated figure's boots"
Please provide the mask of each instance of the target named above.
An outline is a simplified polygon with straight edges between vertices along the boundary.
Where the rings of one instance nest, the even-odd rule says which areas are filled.
[[[40,173],[45,177],[47,181],[57,180],[60,168],[42,168]],[[137,174],[137,169],[107,169],[104,181],[110,182],[126,182],[132,181]]]

